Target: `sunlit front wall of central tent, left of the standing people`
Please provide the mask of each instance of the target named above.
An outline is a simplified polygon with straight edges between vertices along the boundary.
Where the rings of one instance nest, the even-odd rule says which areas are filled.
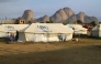
[[[49,41],[59,41],[56,34],[50,33],[25,33],[25,40],[26,41],[34,41],[34,42],[49,42]]]

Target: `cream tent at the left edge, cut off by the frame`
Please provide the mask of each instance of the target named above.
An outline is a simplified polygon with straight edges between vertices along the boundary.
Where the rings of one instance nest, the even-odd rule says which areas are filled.
[[[10,32],[15,34],[15,31],[27,28],[29,24],[0,24],[0,38],[7,38]]]

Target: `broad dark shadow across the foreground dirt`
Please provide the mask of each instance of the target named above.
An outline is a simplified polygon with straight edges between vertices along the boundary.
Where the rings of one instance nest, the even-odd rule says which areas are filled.
[[[101,64],[101,46],[0,55],[0,64]]]

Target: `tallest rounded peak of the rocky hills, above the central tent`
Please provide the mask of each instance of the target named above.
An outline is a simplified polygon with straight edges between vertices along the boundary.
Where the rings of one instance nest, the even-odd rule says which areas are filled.
[[[65,22],[69,17],[74,14],[74,11],[70,8],[64,8],[56,11],[54,15],[52,15],[52,19],[55,22]]]

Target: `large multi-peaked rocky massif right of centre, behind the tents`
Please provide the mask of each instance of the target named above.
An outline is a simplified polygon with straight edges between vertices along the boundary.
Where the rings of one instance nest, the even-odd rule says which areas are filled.
[[[90,23],[91,21],[98,21],[96,17],[88,17],[85,12],[79,12],[75,14],[75,12],[70,8],[64,8],[55,12],[50,17],[55,23],[63,23],[63,22],[75,22],[77,20],[81,20],[82,23]]]

